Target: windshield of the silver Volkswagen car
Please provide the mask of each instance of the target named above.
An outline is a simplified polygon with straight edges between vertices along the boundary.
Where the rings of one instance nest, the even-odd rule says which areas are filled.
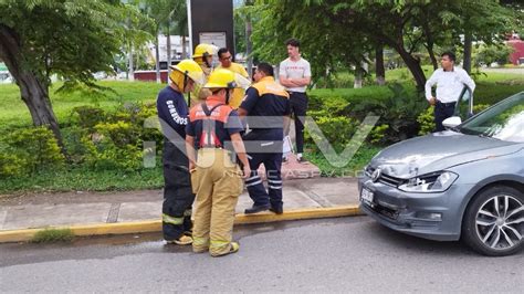
[[[460,132],[524,143],[524,92],[513,95],[465,120]]]

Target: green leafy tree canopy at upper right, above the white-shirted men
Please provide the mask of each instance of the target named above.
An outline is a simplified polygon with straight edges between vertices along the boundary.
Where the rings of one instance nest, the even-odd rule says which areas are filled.
[[[462,46],[464,33],[492,42],[511,31],[517,19],[494,0],[259,0],[256,4],[261,17],[253,40],[261,56],[282,56],[281,42],[296,36],[306,44],[303,51],[318,74],[333,72],[340,63],[358,69],[366,54],[385,45],[398,52],[419,90],[426,83],[421,50],[437,67],[437,45]]]

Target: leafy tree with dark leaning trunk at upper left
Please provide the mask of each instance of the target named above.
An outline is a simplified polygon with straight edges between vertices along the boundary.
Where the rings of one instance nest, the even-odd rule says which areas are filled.
[[[33,124],[49,126],[63,149],[49,98],[51,75],[65,80],[62,90],[96,87],[92,73],[112,72],[123,46],[122,23],[144,19],[117,0],[0,0],[0,59],[15,78]]]

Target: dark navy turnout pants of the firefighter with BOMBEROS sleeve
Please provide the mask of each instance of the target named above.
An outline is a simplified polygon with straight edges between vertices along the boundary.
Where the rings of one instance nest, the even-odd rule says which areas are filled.
[[[191,191],[189,162],[187,156],[169,140],[164,140],[164,203],[163,232],[166,241],[179,239],[191,231]]]

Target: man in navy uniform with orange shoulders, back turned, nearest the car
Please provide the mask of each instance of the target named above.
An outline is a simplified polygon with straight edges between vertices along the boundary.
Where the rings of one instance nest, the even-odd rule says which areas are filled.
[[[251,176],[245,180],[253,207],[245,213],[271,210],[283,213],[282,202],[282,140],[284,119],[291,113],[290,95],[273,77],[273,66],[260,63],[254,74],[255,84],[248,88],[239,108],[240,116],[248,116],[252,128],[243,139],[250,156]],[[258,169],[264,164],[268,191],[262,185]]]

